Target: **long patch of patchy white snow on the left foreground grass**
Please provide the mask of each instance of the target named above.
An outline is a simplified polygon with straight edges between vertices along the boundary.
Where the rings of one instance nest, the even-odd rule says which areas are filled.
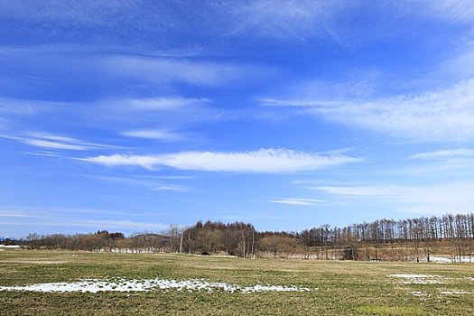
[[[98,293],[106,291],[116,292],[147,292],[153,290],[199,291],[226,293],[256,293],[256,292],[310,292],[309,288],[294,285],[269,285],[256,284],[253,286],[238,286],[229,283],[212,283],[204,280],[166,280],[145,279],[125,280],[114,278],[110,280],[88,279],[74,283],[39,283],[26,286],[0,286],[0,291],[32,291],[32,292],[89,292]]]

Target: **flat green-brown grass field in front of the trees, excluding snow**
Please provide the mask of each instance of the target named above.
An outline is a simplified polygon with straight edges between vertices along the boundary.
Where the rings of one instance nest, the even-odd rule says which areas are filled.
[[[242,287],[293,284],[311,291],[0,291],[0,315],[472,315],[474,311],[474,265],[469,264],[0,252],[0,286],[114,277],[204,279]]]

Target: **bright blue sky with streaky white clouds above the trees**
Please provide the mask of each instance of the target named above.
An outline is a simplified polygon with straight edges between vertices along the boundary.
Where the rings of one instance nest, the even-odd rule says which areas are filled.
[[[0,0],[0,236],[470,212],[472,1]]]

